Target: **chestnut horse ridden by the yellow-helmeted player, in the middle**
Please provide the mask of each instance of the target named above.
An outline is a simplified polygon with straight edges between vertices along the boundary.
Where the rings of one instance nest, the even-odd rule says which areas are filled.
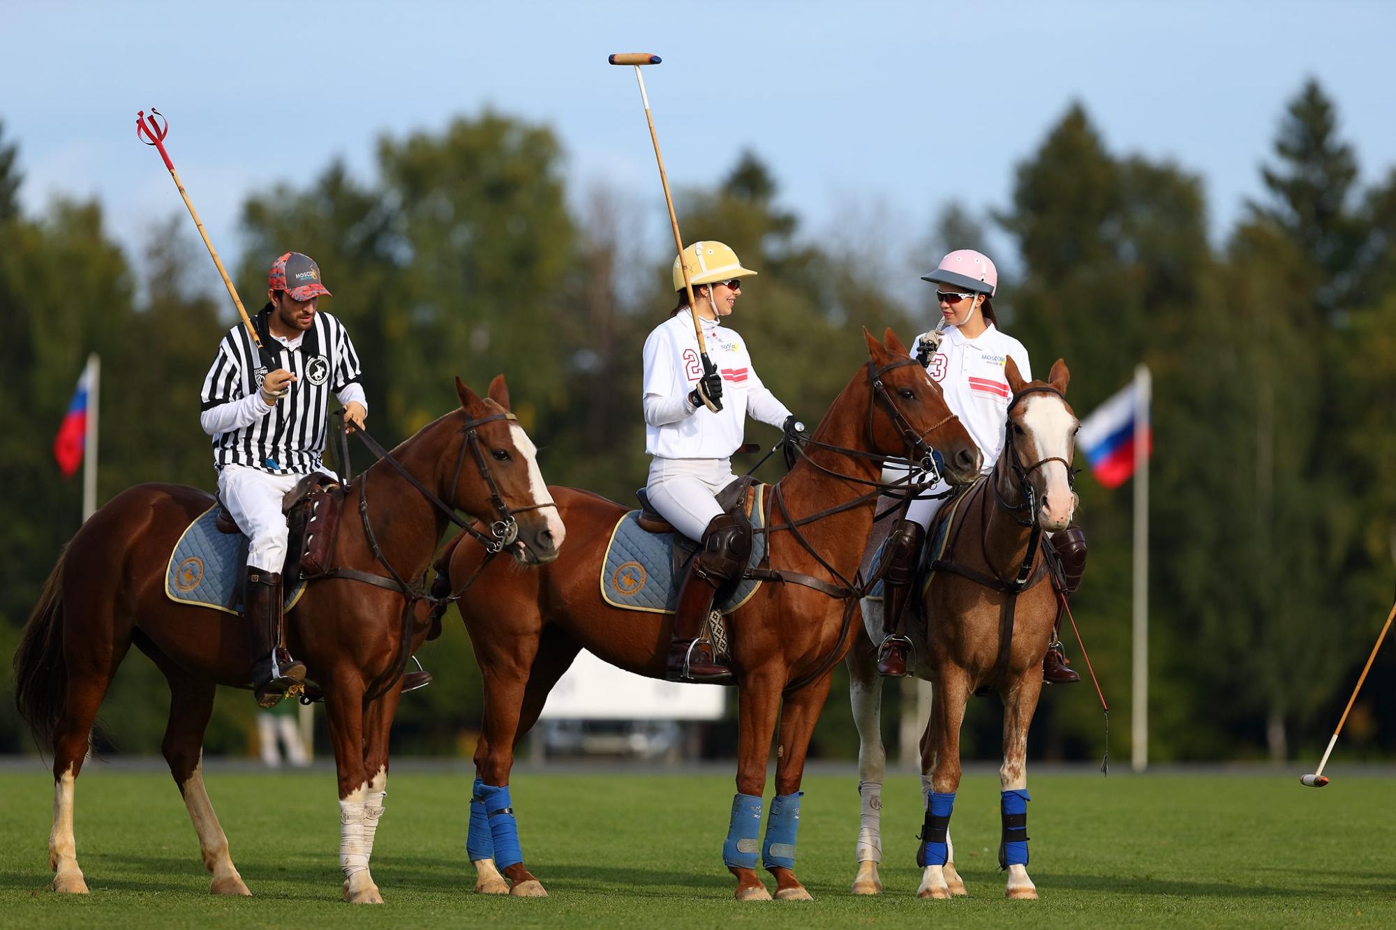
[[[949,480],[979,476],[980,452],[945,405],[940,387],[891,330],[881,344],[867,331],[864,337],[871,360],[805,441],[803,459],[768,494],[773,503],[762,532],[769,533],[771,568],[785,577],[766,574],[727,621],[741,716],[738,795],[723,860],[737,877],[738,899],[771,898],[757,877],[755,853],[778,716],[778,797],[771,807],[764,864],[776,878],[778,898],[808,898],[793,871],[800,778],[831,669],[847,651],[849,634],[856,633],[850,627],[861,584],[850,578],[857,574],[875,500],[885,487],[879,483],[882,462],[909,451],[930,461],[938,451]],[[515,743],[537,721],[549,691],[578,651],[589,649],[648,677],[664,677],[671,617],[611,607],[600,596],[597,580],[607,543],[627,508],[582,490],[558,487],[553,493],[571,533],[567,552],[536,573],[486,567],[482,584],[459,599],[484,674],[468,842],[479,873],[477,891],[546,894],[524,867],[510,813],[510,768]],[[479,571],[482,550],[468,539],[452,546],[448,574],[459,584]]]

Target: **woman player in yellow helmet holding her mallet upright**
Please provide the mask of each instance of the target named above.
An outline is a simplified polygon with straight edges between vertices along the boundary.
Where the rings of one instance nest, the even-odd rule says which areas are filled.
[[[691,310],[702,327],[709,371],[704,371],[680,260],[688,267]],[[653,457],[649,503],[678,532],[702,543],[678,591],[671,680],[722,681],[732,674],[716,662],[712,644],[698,640],[698,630],[716,591],[745,566],[751,531],[722,512],[716,494],[736,480],[730,457],[743,443],[748,413],[786,431],[796,429],[786,405],[757,377],[745,342],[723,325],[741,295],[741,279],[755,274],[720,242],[685,246],[674,258],[678,303],[645,339],[645,451]],[[722,409],[715,412],[705,401]]]

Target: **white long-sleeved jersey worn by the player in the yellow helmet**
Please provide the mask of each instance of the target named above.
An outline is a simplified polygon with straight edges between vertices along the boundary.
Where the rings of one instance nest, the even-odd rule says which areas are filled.
[[[790,411],[766,390],[741,337],[702,321],[708,357],[722,374],[722,411],[694,408],[688,392],[702,377],[692,316],[676,313],[645,339],[645,451],[663,458],[727,458],[743,441],[747,415],[783,426]]]

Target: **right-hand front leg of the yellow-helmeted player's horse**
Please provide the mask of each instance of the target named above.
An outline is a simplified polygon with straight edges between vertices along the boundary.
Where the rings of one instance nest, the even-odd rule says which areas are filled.
[[[829,697],[832,672],[785,698],[780,707],[780,737],[776,743],[776,796],[771,799],[766,841],[761,846],[761,864],[776,880],[778,901],[810,901],[794,877],[794,846],[800,829],[800,779],[810,736],[819,721],[819,711]]]

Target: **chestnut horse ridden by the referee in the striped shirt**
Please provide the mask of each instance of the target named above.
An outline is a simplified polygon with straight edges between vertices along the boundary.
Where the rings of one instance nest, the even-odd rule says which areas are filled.
[[[415,609],[422,581],[448,518],[459,519],[445,507],[496,521],[505,529],[498,547],[508,545],[521,563],[551,561],[563,543],[533,444],[508,413],[504,377],[494,378],[486,399],[459,378],[455,384],[461,408],[394,450],[401,469],[384,459],[349,486],[346,508],[357,504],[362,519],[353,519],[353,511],[343,515],[332,552],[332,564],[349,577],[310,584],[286,623],[292,651],[325,698],[339,774],[346,901],[383,901],[369,857],[383,814],[388,730],[402,665],[427,634]],[[468,457],[473,464],[462,468]],[[250,894],[202,779],[215,686],[251,687],[255,656],[246,620],[165,595],[170,552],[212,504],[209,494],[181,485],[121,492],[68,542],[25,627],[14,659],[15,700],[40,748],[53,751],[54,891],[87,892],[73,838],[73,789],[98,707],[134,642],[169,680],[163,751],[204,866],[214,874],[209,891]],[[364,584],[364,575],[377,581]]]

